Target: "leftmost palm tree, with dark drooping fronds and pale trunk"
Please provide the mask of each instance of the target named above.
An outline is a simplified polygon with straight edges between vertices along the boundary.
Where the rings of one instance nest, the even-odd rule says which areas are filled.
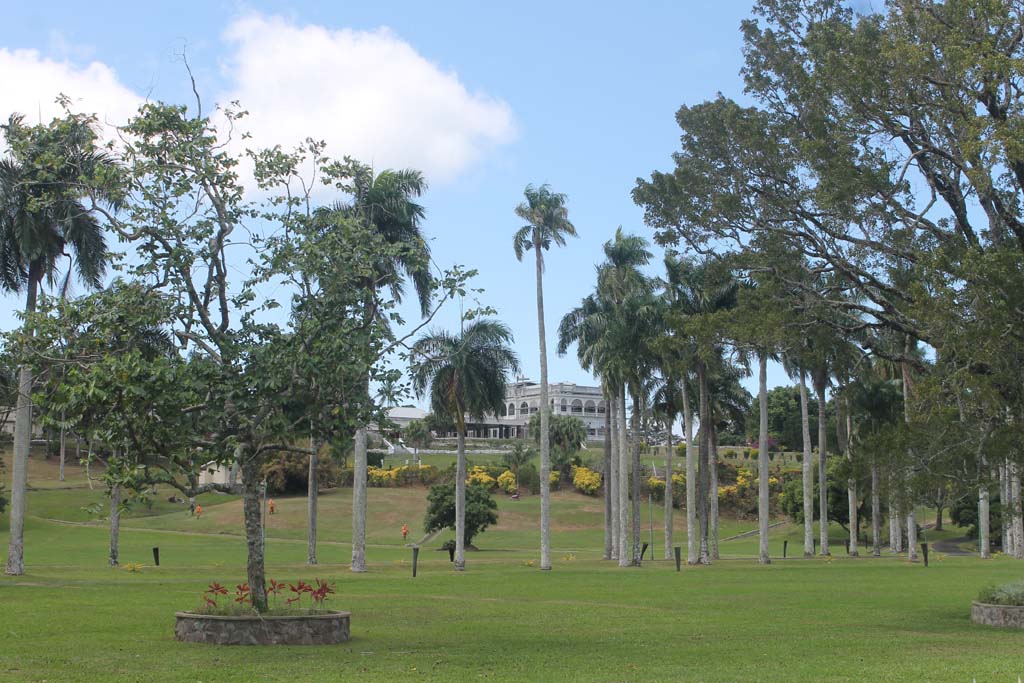
[[[74,115],[49,126],[27,127],[11,116],[3,126],[11,148],[0,160],[0,287],[26,292],[25,312],[36,310],[43,281],[53,284],[66,257],[87,286],[98,288],[106,272],[103,228],[83,202],[116,207],[116,190],[92,180],[116,166],[95,148],[91,120]],[[32,334],[31,319],[26,333]],[[10,544],[6,572],[25,573],[25,512],[32,439],[32,371],[18,370],[11,472]]]

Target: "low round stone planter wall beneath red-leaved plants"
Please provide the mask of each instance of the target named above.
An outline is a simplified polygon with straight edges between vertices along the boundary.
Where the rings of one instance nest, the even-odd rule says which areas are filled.
[[[220,616],[177,612],[174,637],[212,645],[334,645],[349,637],[350,612]]]

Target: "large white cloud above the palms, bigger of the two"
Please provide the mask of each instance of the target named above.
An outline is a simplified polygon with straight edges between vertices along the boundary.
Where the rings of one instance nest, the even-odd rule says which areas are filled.
[[[234,50],[220,99],[250,112],[243,128],[258,145],[324,139],[333,156],[416,168],[436,184],[515,136],[505,102],[470,93],[387,29],[332,31],[248,14],[223,38]]]

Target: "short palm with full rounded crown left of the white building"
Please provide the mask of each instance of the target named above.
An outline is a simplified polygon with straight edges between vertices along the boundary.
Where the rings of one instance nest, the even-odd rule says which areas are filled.
[[[518,372],[519,359],[509,348],[512,332],[502,323],[481,318],[460,335],[430,332],[413,346],[413,388],[430,393],[435,415],[455,422],[456,465],[455,568],[466,568],[466,417],[498,415],[505,404],[507,376]]]

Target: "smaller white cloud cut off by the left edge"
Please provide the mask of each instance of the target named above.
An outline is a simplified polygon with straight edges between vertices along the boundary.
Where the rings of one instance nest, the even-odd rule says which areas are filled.
[[[49,122],[60,116],[56,97],[72,99],[72,110],[94,113],[100,122],[124,124],[142,101],[118,80],[113,69],[99,61],[79,67],[44,57],[38,50],[0,48],[0,120],[14,113],[27,123]]]

